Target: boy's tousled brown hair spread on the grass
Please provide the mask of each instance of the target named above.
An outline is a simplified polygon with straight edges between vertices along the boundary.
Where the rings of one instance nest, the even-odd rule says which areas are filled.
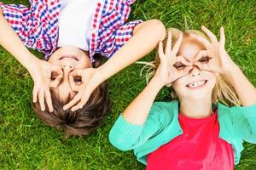
[[[96,65],[98,66],[98,65]],[[67,101],[60,101],[55,93],[51,92],[53,112],[46,107],[45,111],[41,111],[39,102],[33,103],[33,110],[38,118],[51,127],[64,130],[67,138],[70,136],[84,136],[92,133],[97,127],[103,123],[103,118],[110,111],[110,101],[108,95],[108,84],[102,82],[92,94],[83,108],[78,111],[63,110],[63,105]]]

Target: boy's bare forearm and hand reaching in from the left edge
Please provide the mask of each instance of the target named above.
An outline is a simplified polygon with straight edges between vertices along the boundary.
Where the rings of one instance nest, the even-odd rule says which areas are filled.
[[[0,8],[1,9],[1,8]],[[25,66],[34,81],[33,102],[41,105],[41,110],[45,110],[44,100],[46,101],[49,111],[53,111],[51,97],[49,93],[50,86],[56,86],[60,82],[62,75],[61,68],[50,65],[48,62],[38,59],[25,47],[20,37],[16,34],[0,10],[0,45],[9,51],[21,65]],[[60,74],[59,78],[52,81],[51,72],[56,71]]]

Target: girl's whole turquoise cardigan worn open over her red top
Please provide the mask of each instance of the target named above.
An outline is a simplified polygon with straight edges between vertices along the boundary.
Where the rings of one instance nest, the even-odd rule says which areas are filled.
[[[178,101],[155,102],[143,125],[125,122],[120,115],[109,133],[109,140],[119,150],[134,150],[137,160],[147,165],[148,153],[183,133],[177,115]],[[237,164],[243,140],[256,144],[256,105],[227,107],[218,104],[218,123],[219,138],[232,144]]]

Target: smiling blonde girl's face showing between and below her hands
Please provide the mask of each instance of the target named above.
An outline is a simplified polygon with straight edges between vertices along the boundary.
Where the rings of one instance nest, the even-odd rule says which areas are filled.
[[[177,55],[183,56],[193,64],[195,57],[201,50],[205,50],[205,47],[200,42],[191,37],[186,37],[183,39]],[[202,60],[202,62],[207,61]],[[172,87],[179,99],[208,99],[209,97],[212,98],[212,89],[215,84],[215,73],[200,70],[196,65],[193,65],[186,76],[180,77],[172,83]]]

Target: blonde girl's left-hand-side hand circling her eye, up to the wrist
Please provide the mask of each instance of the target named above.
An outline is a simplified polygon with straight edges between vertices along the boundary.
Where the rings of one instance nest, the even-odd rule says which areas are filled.
[[[172,48],[172,32],[169,31],[165,53],[163,42],[159,43],[160,65],[154,77],[158,77],[163,86],[170,86],[173,81],[185,76],[192,69],[192,65],[183,56],[176,56],[182,40],[183,34],[180,34]]]

